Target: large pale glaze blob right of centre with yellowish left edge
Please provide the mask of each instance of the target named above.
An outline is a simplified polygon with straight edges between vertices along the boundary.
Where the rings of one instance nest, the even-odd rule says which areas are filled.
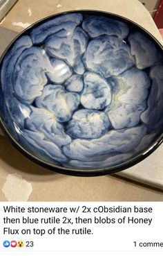
[[[136,126],[140,114],[146,109],[150,79],[144,71],[135,67],[114,78],[117,87],[111,106],[105,112],[115,129]]]

